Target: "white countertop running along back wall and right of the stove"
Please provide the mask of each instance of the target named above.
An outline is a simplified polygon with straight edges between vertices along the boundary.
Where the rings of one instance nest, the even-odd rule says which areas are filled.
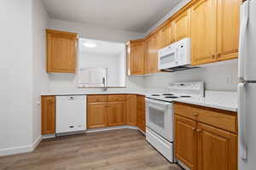
[[[108,92],[53,92],[42,94],[45,95],[90,95],[90,94],[141,94],[150,96],[150,94],[159,94],[163,89],[145,89],[145,90],[119,90],[119,91],[108,91]],[[221,109],[225,111],[237,111],[237,93],[236,92],[225,92],[225,91],[206,91],[204,98],[178,98],[178,99],[166,99],[166,101],[177,101],[192,105],[201,105],[211,107],[215,109]]]

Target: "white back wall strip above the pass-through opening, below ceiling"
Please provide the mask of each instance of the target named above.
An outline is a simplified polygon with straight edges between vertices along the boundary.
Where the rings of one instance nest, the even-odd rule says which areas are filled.
[[[49,20],[49,28],[79,33],[80,37],[103,40],[109,42],[127,42],[131,39],[143,37],[142,33],[134,31],[114,30],[112,28],[91,26],[66,20]]]

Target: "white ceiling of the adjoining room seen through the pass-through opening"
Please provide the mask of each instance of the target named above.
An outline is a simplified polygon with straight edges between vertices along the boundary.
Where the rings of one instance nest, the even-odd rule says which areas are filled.
[[[93,42],[96,44],[95,48],[87,48],[84,46],[84,42]],[[105,42],[100,40],[93,40],[88,38],[79,38],[79,53],[80,54],[90,54],[105,55],[106,57],[116,57],[119,54],[124,53],[125,43],[118,42]]]

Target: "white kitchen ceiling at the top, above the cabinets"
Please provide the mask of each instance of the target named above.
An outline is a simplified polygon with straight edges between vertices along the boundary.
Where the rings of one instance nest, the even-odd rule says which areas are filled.
[[[181,0],[42,0],[49,16],[95,26],[145,32]]]

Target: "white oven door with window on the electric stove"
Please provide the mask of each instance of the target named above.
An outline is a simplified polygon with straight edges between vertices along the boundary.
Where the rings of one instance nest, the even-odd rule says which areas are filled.
[[[172,103],[146,99],[146,124],[149,129],[158,133],[169,142],[173,141]]]

